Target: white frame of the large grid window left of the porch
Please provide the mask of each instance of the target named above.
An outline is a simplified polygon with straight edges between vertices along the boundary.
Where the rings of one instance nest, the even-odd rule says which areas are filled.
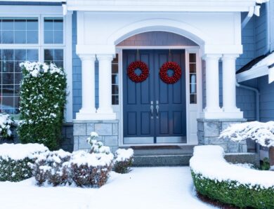
[[[1,18],[38,18],[38,43],[1,43],[0,48],[38,49],[39,62],[44,62],[44,49],[62,48],[64,50],[64,69],[67,74],[67,104],[65,107],[65,122],[72,122],[72,12],[63,16],[62,6],[0,6]],[[63,43],[44,44],[44,18],[63,18]]]

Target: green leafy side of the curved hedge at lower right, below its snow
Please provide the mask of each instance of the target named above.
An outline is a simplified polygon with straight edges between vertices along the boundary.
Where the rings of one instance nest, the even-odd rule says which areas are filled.
[[[265,189],[236,181],[217,181],[192,171],[197,192],[211,199],[240,208],[274,208],[274,187]]]

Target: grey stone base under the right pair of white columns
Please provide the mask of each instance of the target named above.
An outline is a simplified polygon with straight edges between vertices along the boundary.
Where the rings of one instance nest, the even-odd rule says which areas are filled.
[[[247,152],[247,142],[233,142],[230,139],[219,139],[221,132],[233,123],[244,123],[246,119],[197,119],[198,142],[200,145],[219,145],[226,153]]]

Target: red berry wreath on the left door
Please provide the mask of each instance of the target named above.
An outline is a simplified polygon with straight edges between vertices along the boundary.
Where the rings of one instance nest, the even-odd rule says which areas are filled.
[[[137,75],[135,73],[136,69],[141,69],[141,74]],[[129,67],[127,68],[127,74],[129,76],[129,79],[131,81],[134,81],[136,83],[140,83],[145,81],[145,79],[148,78],[149,70],[148,70],[148,65],[145,64],[145,62],[142,61],[136,61],[136,62],[131,62]]]

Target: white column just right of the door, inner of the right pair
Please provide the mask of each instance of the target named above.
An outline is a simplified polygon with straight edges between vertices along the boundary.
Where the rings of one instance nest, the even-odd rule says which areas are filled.
[[[217,119],[221,112],[219,106],[218,60],[221,55],[206,55],[206,96],[207,106],[204,109],[204,118]]]

